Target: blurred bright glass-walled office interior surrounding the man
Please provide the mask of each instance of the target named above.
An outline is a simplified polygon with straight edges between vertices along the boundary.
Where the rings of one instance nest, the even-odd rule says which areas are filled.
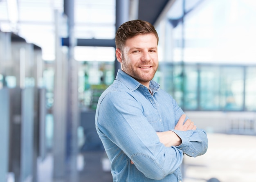
[[[1,182],[112,181],[94,114],[134,19],[159,34],[155,81],[209,137],[184,182],[256,179],[254,0],[0,0]]]

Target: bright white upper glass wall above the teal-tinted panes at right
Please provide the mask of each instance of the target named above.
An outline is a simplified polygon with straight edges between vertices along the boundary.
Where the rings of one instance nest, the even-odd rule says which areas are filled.
[[[176,0],[157,25],[162,61],[253,63],[255,9],[252,0]]]

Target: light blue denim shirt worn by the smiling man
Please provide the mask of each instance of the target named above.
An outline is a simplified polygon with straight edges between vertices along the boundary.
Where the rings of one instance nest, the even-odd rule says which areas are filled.
[[[159,88],[150,81],[150,94],[147,87],[119,70],[99,98],[96,129],[111,162],[113,182],[182,182],[183,153],[196,157],[207,151],[203,130],[174,130],[184,112]],[[165,147],[159,142],[156,132],[168,130],[182,139],[180,146]]]

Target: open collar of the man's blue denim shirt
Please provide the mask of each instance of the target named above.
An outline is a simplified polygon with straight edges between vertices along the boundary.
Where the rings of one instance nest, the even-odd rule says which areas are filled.
[[[124,83],[132,91],[136,90],[141,85],[141,83],[132,78],[130,75],[126,74],[126,72],[124,72],[123,70],[118,70],[116,80]],[[150,81],[149,89],[151,90],[151,92],[156,92],[159,90],[159,88],[160,85],[157,82],[153,80]]]

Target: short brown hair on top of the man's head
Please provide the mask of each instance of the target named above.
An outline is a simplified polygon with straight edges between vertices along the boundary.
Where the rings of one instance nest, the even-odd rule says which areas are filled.
[[[157,38],[157,44],[159,41],[159,37],[155,27],[149,22],[143,20],[130,20],[125,22],[119,26],[117,29],[115,43],[116,47],[123,50],[126,40],[136,35],[144,35],[144,34],[154,34]]]

